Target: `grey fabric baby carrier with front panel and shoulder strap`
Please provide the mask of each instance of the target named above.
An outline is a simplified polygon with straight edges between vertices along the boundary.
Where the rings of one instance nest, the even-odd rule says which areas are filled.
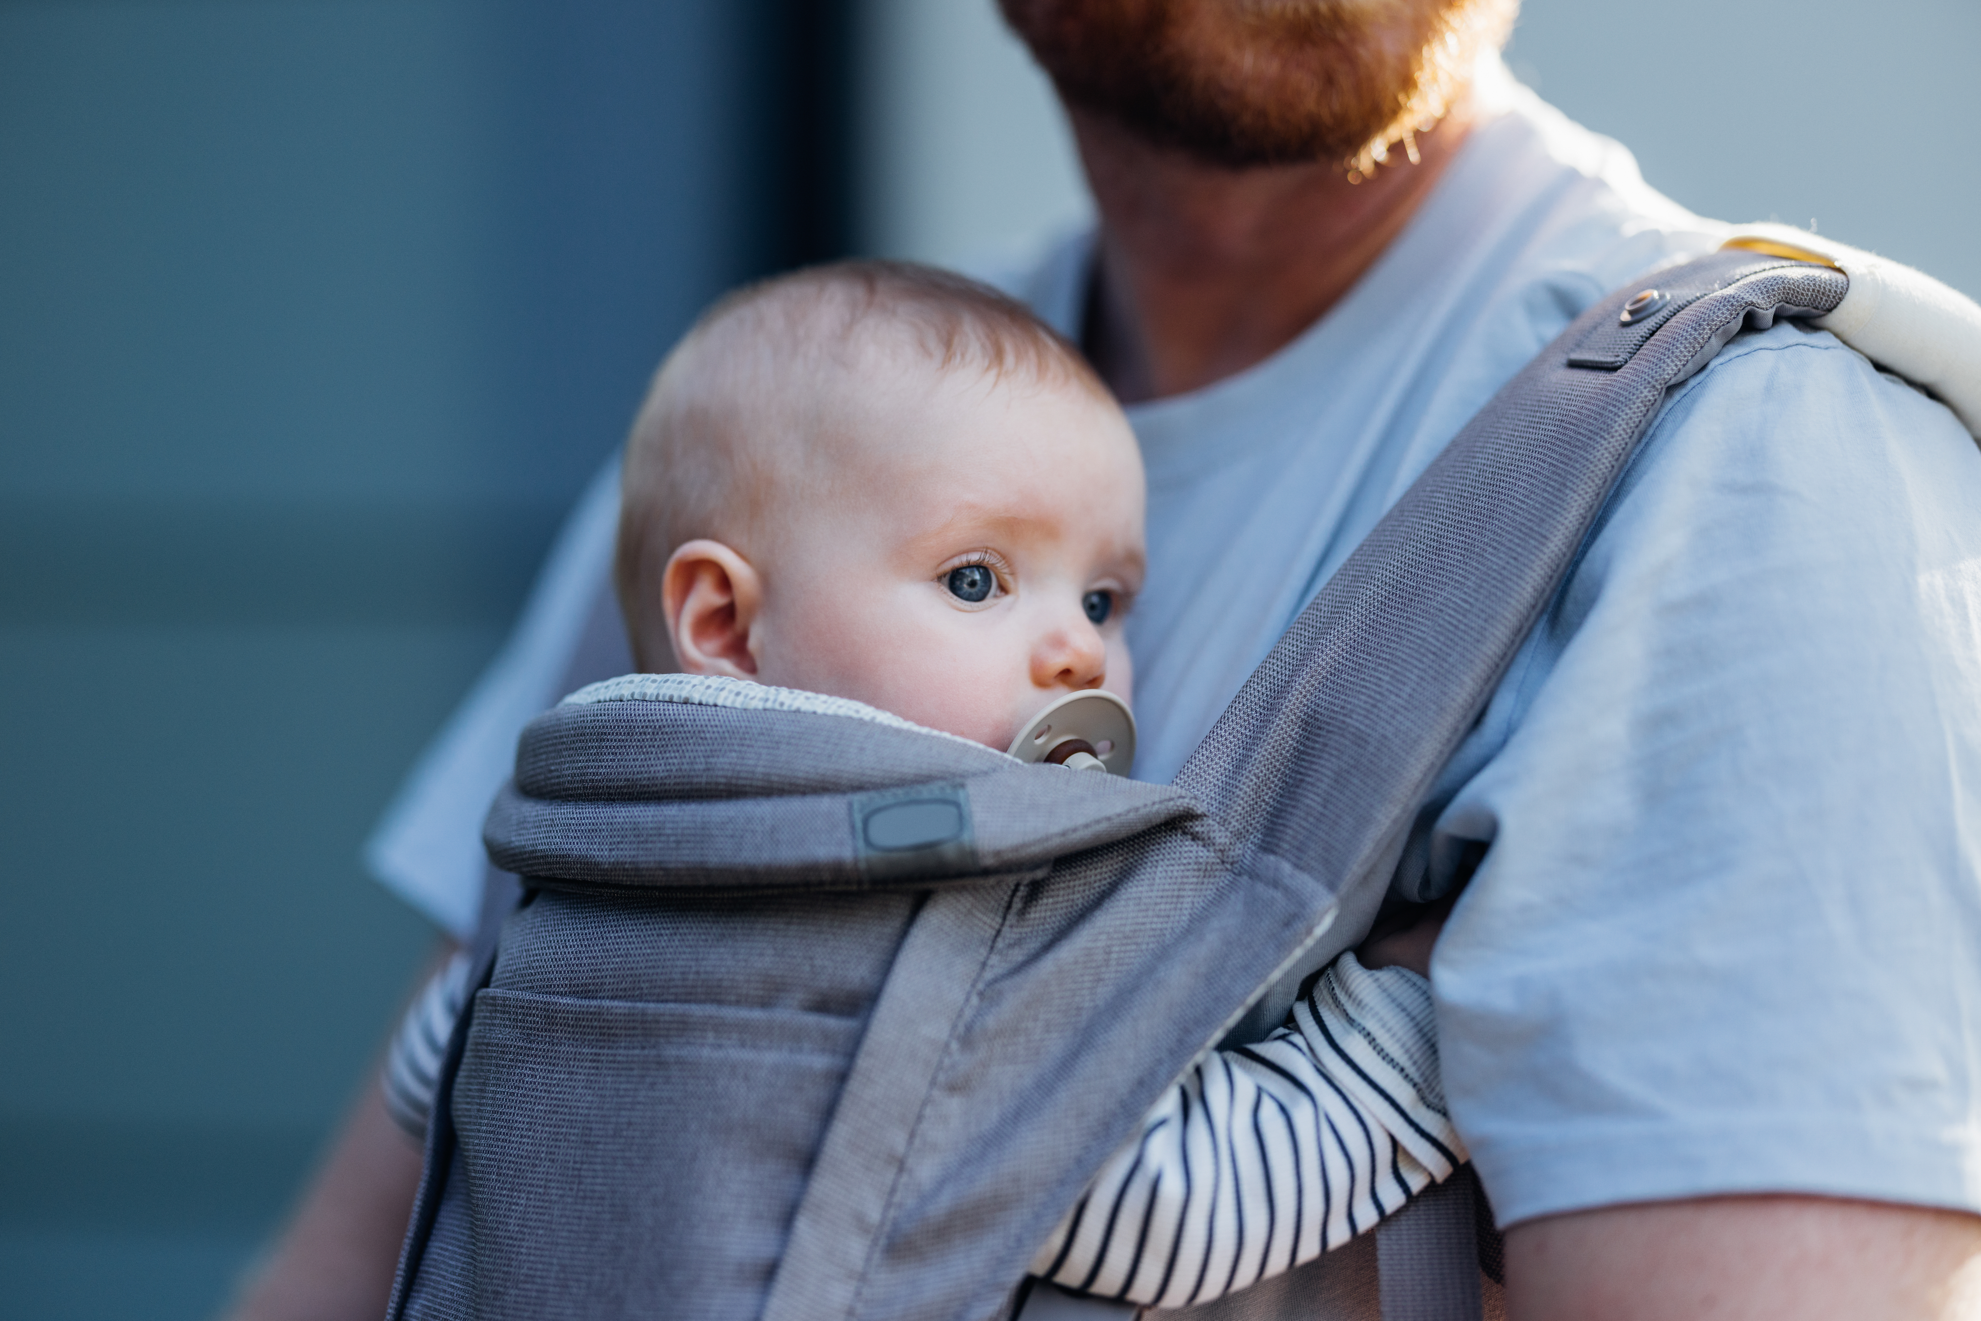
[[[1163,1089],[1367,931],[1666,390],[1846,287],[1753,254],[1652,283],[1452,442],[1173,786],[822,713],[539,717],[487,824],[533,901],[456,1030],[390,1315],[1004,1315]],[[1438,1206],[1412,1234],[1458,1244]],[[1476,1315],[1470,1264],[1381,1258],[1385,1311]],[[1313,1315],[1303,1279],[1200,1311]]]

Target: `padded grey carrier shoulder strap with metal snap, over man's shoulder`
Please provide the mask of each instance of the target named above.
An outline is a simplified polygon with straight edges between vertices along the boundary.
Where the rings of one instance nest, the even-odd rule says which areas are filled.
[[[1729,250],[1591,307],[1323,584],[1177,784],[1268,867],[1327,877],[1343,897],[1387,887],[1416,808],[1672,386],[1743,329],[1821,317],[1846,289],[1834,267]],[[1385,1220],[1377,1258],[1385,1321],[1476,1321],[1470,1170]],[[1199,1311],[1254,1321],[1300,1305],[1266,1281]]]

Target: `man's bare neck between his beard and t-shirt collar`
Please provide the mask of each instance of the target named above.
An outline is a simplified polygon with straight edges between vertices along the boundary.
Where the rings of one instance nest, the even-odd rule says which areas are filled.
[[[1422,160],[1349,182],[1341,166],[1228,170],[1074,111],[1099,204],[1084,349],[1123,402],[1202,388],[1319,321],[1403,232],[1470,129],[1416,139]]]

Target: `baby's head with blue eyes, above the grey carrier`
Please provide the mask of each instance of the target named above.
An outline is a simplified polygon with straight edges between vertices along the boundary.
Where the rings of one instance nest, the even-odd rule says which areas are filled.
[[[642,669],[854,697],[1002,749],[1129,697],[1135,438],[1080,353],[941,271],[848,261],[731,295],[626,446],[618,594]]]

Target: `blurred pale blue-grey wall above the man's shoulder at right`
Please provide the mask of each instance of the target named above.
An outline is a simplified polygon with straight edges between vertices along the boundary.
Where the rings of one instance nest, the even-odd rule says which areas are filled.
[[[1973,0],[1525,0],[1513,71],[1721,220],[1815,224],[1981,295]]]

